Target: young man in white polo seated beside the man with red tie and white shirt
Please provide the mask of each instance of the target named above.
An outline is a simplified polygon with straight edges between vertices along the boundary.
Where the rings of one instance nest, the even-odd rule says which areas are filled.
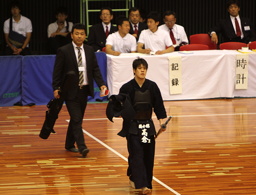
[[[149,29],[141,32],[138,39],[137,52],[147,53],[155,52],[155,55],[170,53],[174,51],[172,40],[167,31],[158,29],[160,15],[158,12],[150,12],[147,16],[147,26]],[[145,45],[145,49],[143,49]]]

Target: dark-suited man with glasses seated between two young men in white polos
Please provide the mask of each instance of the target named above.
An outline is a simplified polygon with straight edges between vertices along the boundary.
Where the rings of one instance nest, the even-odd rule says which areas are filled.
[[[129,33],[133,35],[137,42],[140,37],[141,31],[147,29],[147,24],[140,22],[140,9],[137,7],[131,7],[128,11],[130,21],[130,31]]]

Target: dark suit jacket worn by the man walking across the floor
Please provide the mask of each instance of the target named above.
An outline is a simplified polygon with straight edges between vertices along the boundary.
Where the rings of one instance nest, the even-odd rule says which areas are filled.
[[[93,48],[83,45],[84,51],[86,53],[86,66],[87,66],[87,77],[89,81],[89,96],[94,98],[94,88],[93,88],[93,79],[95,79],[98,87],[105,85],[104,80],[102,79],[100,67],[98,67],[97,58]],[[71,84],[69,94],[66,99],[74,99],[77,95],[79,89],[79,71],[77,64],[77,57],[75,56],[75,51],[72,42],[66,46],[60,47],[57,50],[55,65],[52,75],[52,88],[53,91],[59,89],[61,84],[65,79],[65,75],[69,71],[75,71],[75,78]]]

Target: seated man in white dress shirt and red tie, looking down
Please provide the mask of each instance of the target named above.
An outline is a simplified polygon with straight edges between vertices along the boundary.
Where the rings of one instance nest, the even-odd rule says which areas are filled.
[[[164,12],[164,23],[159,26],[159,29],[167,31],[170,34],[170,39],[172,39],[173,47],[175,51],[179,51],[179,46],[184,46],[188,44],[187,35],[185,29],[181,25],[176,23],[176,13],[173,11]]]

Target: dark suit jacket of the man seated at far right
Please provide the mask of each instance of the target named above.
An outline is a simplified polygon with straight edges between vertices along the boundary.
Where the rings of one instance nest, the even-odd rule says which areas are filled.
[[[249,42],[255,41],[256,40],[255,29],[250,19],[247,19],[245,17],[240,17],[240,20],[241,20],[241,26],[242,26],[241,30],[242,30],[242,33],[244,33],[243,39],[236,36],[230,16],[227,17],[227,19],[223,19],[219,21],[218,25],[212,28],[209,33],[212,33],[212,31],[215,31],[217,34],[222,33],[224,42],[249,43]],[[245,26],[249,26],[250,30],[245,30]]]

